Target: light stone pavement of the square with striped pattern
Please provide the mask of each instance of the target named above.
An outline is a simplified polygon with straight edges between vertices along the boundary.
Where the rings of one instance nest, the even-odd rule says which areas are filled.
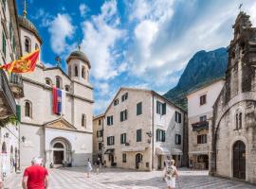
[[[100,175],[92,173],[86,178],[84,168],[50,169],[50,189],[154,189],[167,188],[162,180],[162,171],[136,172],[119,168],[104,168]],[[176,188],[224,189],[224,188],[256,188],[241,181],[226,180],[208,176],[207,171],[180,169]],[[21,189],[22,174],[15,175],[5,181],[5,188]]]

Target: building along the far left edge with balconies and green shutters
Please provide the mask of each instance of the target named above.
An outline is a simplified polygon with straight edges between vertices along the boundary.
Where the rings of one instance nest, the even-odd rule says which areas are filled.
[[[22,55],[17,7],[14,0],[1,1],[0,64],[6,64]],[[0,70],[0,174],[4,179],[19,166],[19,125],[15,119],[15,97],[22,95],[18,75],[7,75]]]

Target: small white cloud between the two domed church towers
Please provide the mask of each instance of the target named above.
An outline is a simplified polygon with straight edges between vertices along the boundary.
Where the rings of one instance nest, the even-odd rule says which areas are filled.
[[[48,31],[50,33],[50,45],[53,52],[59,55],[66,53],[69,48],[66,41],[71,39],[75,32],[75,26],[72,25],[69,15],[57,14],[51,21]]]

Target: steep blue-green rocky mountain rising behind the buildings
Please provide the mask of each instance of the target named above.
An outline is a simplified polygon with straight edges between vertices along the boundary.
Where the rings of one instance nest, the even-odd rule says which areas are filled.
[[[186,95],[220,77],[225,77],[228,64],[227,48],[195,53],[188,62],[177,85],[164,96],[187,110]]]

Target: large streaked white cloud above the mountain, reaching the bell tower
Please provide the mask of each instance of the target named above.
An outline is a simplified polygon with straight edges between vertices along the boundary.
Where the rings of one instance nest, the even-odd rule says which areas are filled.
[[[251,2],[247,0],[245,5],[250,8],[245,10],[249,10],[253,23],[256,3]],[[231,26],[238,14],[237,5],[221,0],[208,4],[134,1],[128,10],[131,12],[129,21],[136,25],[126,56],[130,75],[150,82],[152,87],[177,82],[174,73],[184,69],[194,53],[229,45]]]

